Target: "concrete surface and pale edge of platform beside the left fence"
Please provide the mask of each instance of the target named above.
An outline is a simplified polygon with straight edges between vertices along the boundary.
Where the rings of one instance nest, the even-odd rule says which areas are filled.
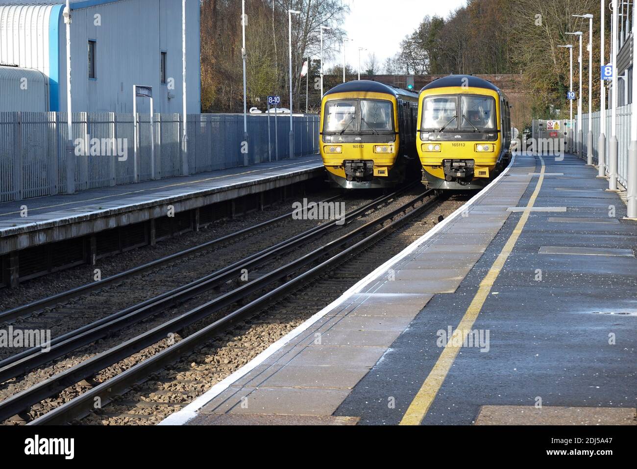
[[[196,209],[316,177],[320,156],[0,204],[0,254]],[[26,208],[27,216],[23,207]]]

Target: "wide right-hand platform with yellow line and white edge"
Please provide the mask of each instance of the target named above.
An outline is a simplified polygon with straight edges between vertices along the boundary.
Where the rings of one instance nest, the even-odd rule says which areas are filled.
[[[636,424],[637,225],[595,176],[518,155],[162,424]]]

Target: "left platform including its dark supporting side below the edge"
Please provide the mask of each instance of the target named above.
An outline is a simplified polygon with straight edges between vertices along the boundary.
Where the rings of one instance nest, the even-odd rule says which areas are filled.
[[[276,198],[275,191],[285,191],[289,186],[322,174],[320,156],[304,156],[85,190],[73,195],[4,202],[0,204],[0,257],[3,260],[3,279],[0,280],[17,286],[18,281],[33,276],[29,276],[31,272],[27,268],[20,272],[20,264],[41,264],[43,259],[52,257],[52,265],[47,267],[49,272],[87,262],[87,259],[94,262],[110,249],[113,238],[117,237],[120,241],[115,244],[127,248],[154,244],[164,235],[184,229],[196,230],[200,224],[214,221],[218,216],[234,215],[235,201],[241,200],[237,203],[242,207],[249,205],[243,207],[243,211],[252,205],[262,207],[268,204],[269,196]],[[228,201],[232,201],[228,209],[232,213],[225,210],[219,214],[217,205]],[[129,231],[117,236],[110,232],[127,227]],[[91,239],[96,235],[96,239]],[[69,243],[59,249],[64,251],[64,257],[59,260],[66,263],[64,266],[55,264],[55,253],[37,251],[58,242]],[[31,251],[25,251],[27,249]],[[26,264],[19,259],[18,251],[26,253]]]

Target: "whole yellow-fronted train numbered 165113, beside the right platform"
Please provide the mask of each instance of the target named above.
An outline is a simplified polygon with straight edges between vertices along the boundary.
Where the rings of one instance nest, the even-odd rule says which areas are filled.
[[[438,78],[420,91],[417,148],[427,186],[481,189],[510,163],[509,101],[471,75]]]

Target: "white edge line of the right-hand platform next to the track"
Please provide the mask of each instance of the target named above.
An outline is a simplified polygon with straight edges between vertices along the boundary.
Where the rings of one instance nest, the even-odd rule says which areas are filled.
[[[192,403],[185,406],[182,410],[166,417],[166,419],[159,422],[158,425],[183,425],[194,419],[197,416],[198,410],[200,410],[204,405],[209,403],[212,399],[216,398],[226,389],[228,389],[234,382],[238,381],[240,378],[243,378],[243,376],[247,375],[248,373],[250,373],[250,371],[257,368],[257,366],[262,364],[269,357],[278,352],[278,350],[280,350],[284,345],[289,343],[290,340],[294,339],[296,336],[306,331],[306,329],[309,329],[311,325],[315,324],[315,322],[317,322],[320,318],[327,315],[329,311],[332,311],[334,308],[347,301],[347,299],[349,299],[352,295],[359,294],[364,287],[369,285],[369,283],[382,276],[382,274],[384,274],[387,269],[389,269],[389,267],[396,264],[404,257],[410,255],[421,244],[437,234],[443,227],[445,227],[445,225],[450,223],[452,220],[455,220],[457,216],[460,216],[462,212],[468,209],[468,207],[471,207],[471,205],[475,205],[476,202],[485,197],[488,191],[491,190],[491,188],[495,184],[497,184],[497,182],[499,182],[506,174],[508,174],[509,170],[513,167],[513,163],[515,163],[515,155],[513,155],[512,157],[511,164],[501,174],[499,174],[496,179],[491,181],[482,191],[480,191],[480,193],[476,194],[475,197],[472,197],[470,200],[468,200],[466,204],[459,207],[450,216],[445,218],[445,220],[441,221],[440,223],[438,223],[438,225],[429,230],[429,232],[422,235],[422,237],[420,237],[416,241],[412,242],[412,244],[403,249],[403,251],[399,252],[397,255],[385,262],[385,264],[377,267],[373,272],[369,273],[367,276],[355,283],[355,285],[352,285],[352,287],[350,287],[345,293],[338,297],[338,299],[334,300],[325,308],[318,311],[318,313],[311,316],[311,318],[303,322],[303,324],[298,325],[295,329],[285,334],[285,336],[278,339],[278,341],[266,348],[266,350],[261,352],[261,354],[254,357],[254,359],[243,365],[240,369],[235,371],[224,380],[215,384],[213,387],[208,389],[208,391],[199,396],[199,398],[195,399],[194,401],[192,401]]]

